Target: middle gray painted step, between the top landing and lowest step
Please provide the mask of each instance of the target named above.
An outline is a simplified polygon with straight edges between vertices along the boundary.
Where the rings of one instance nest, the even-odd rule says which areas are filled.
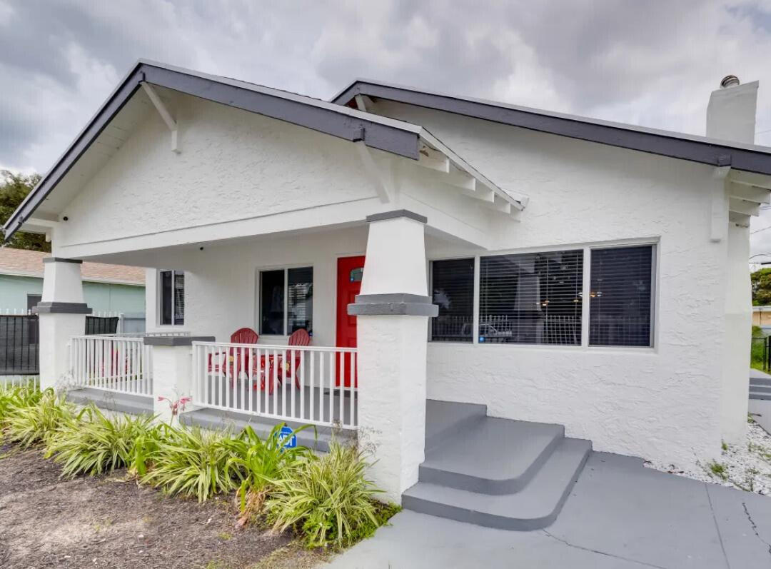
[[[564,437],[564,427],[475,417],[426,452],[421,482],[485,494],[524,488]]]

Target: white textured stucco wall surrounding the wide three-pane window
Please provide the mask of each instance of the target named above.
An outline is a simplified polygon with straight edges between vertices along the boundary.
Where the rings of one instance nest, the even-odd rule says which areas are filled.
[[[709,240],[710,190],[722,183],[711,169],[397,103],[376,108],[423,124],[500,186],[530,195],[521,222],[491,228],[493,251],[658,247],[654,348],[431,342],[429,397],[562,423],[598,450],[675,463],[718,454],[726,241]]]

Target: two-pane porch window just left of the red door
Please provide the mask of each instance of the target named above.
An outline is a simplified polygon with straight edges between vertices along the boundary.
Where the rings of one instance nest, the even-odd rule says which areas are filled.
[[[260,271],[260,333],[313,333],[313,268]]]

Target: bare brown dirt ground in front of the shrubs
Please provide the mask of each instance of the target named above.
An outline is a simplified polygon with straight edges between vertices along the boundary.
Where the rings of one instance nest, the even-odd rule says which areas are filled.
[[[251,569],[322,558],[255,527],[237,530],[231,498],[200,504],[109,476],[59,478],[39,451],[0,458],[0,567]]]

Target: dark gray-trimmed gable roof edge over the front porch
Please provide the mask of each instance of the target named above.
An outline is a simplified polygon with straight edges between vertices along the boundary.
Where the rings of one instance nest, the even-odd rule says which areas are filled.
[[[465,163],[443,146],[422,126],[250,82],[140,59],[65,153],[59,157],[51,170],[42,177],[38,185],[5,222],[2,228],[5,241],[19,231],[22,224],[32,216],[42,201],[75,166],[79,158],[93,143],[97,142],[97,137],[109,126],[110,121],[126,106],[143,83],[305,126],[350,142],[361,142],[366,146],[412,160],[419,160],[421,149],[429,146],[432,150],[443,153],[460,167],[460,170],[480,180],[483,186],[497,195],[503,205],[509,204],[506,207],[513,206],[514,209],[521,210],[526,202],[517,194],[507,192],[481,176],[470,164]]]

